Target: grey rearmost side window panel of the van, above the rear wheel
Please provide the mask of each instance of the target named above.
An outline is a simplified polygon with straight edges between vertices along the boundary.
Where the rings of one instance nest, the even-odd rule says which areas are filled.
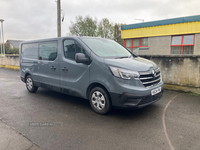
[[[38,43],[23,44],[21,54],[24,58],[38,59]]]

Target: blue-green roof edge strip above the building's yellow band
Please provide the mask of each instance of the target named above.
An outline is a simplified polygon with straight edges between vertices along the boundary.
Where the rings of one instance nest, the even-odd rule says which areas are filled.
[[[124,26],[121,26],[121,30],[161,26],[161,25],[177,24],[177,23],[186,23],[186,22],[195,22],[195,21],[200,21],[200,15],[124,25]]]

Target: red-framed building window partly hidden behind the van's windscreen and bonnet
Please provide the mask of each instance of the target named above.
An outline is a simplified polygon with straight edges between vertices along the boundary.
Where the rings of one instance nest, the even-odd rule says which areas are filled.
[[[124,40],[124,46],[132,53],[136,54],[136,51],[139,50],[140,47],[148,47],[148,38],[127,39]]]

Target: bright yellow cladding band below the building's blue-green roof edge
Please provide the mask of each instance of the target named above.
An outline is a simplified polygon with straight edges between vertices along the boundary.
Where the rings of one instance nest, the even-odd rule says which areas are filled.
[[[200,21],[121,30],[122,39],[200,33]]]

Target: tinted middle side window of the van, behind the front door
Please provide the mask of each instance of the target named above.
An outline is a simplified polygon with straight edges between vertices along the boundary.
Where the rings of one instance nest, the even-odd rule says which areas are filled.
[[[54,61],[57,57],[57,41],[42,42],[39,44],[39,59]]]

